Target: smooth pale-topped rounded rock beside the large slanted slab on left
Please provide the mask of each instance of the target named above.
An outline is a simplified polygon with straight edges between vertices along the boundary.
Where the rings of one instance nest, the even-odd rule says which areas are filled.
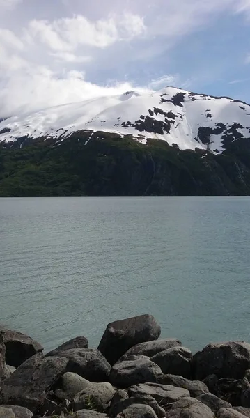
[[[56,382],[54,393],[59,399],[68,399],[72,402],[75,396],[88,385],[91,385],[89,380],[81,378],[76,373],[67,372]]]

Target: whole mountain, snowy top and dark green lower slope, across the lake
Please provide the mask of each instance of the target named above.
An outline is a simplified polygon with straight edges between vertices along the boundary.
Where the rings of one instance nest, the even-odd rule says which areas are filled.
[[[0,196],[250,194],[250,106],[178,88],[0,123]]]

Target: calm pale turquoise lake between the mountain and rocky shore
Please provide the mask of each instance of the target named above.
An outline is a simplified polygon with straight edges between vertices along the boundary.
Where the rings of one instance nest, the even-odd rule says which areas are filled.
[[[250,341],[250,198],[0,199],[0,323],[46,350],[150,313],[198,350]]]

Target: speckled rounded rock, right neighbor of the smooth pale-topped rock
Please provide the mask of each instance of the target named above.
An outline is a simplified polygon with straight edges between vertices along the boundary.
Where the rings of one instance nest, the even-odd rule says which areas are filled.
[[[115,393],[110,383],[91,383],[75,396],[73,408],[75,411],[93,408],[97,412],[104,412]]]

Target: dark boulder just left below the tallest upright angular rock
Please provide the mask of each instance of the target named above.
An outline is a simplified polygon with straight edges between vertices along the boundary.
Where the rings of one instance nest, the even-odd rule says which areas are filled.
[[[105,382],[111,370],[110,364],[99,350],[71,348],[61,351],[58,356],[68,359],[68,371],[79,374],[91,382]]]

